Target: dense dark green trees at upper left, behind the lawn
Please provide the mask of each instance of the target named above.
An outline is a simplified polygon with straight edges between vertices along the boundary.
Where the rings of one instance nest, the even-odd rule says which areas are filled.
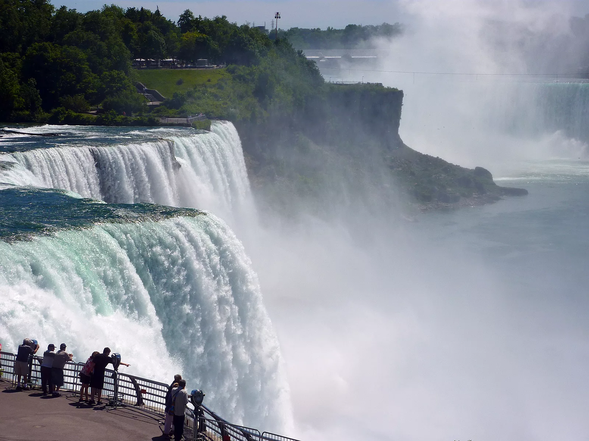
[[[226,16],[187,10],[175,23],[159,9],[105,5],[81,14],[48,0],[0,0],[0,29],[0,121],[45,121],[55,109],[92,105],[131,113],[142,105],[134,58],[249,66],[273,47],[259,29]]]

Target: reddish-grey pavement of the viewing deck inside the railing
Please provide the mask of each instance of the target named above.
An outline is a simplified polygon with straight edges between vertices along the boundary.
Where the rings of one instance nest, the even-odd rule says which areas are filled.
[[[163,441],[163,419],[134,407],[78,406],[78,397],[44,397],[0,380],[0,441]]]

